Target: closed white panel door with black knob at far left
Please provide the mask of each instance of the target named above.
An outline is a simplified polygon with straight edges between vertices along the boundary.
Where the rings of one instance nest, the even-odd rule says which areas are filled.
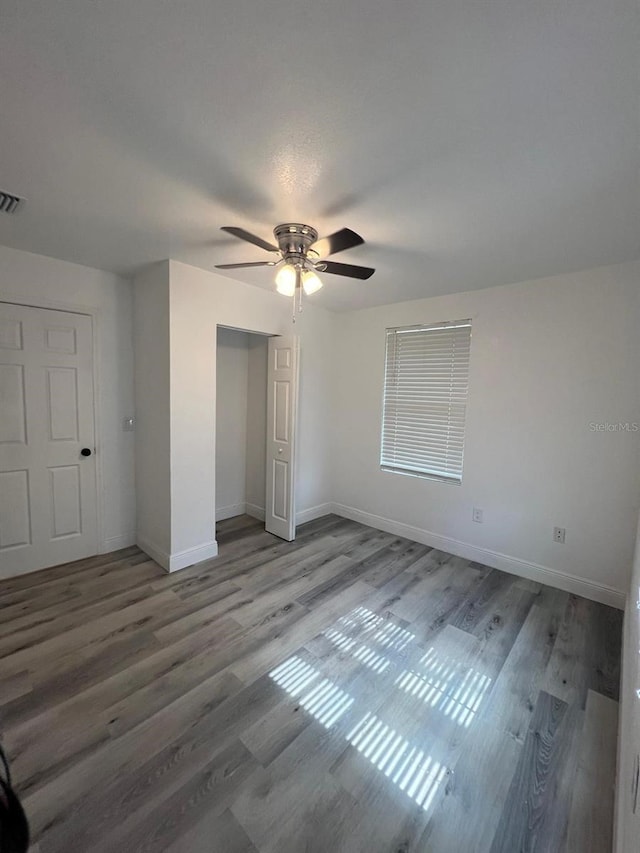
[[[97,553],[91,317],[0,302],[0,577]]]

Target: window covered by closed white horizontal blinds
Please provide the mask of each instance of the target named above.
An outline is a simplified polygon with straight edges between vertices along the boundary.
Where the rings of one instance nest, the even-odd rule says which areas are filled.
[[[462,482],[471,320],[387,329],[384,471]]]

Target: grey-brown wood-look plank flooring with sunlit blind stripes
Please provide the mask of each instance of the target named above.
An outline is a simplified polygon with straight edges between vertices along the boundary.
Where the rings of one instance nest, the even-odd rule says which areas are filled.
[[[38,853],[609,853],[622,614],[326,516],[0,584]]]

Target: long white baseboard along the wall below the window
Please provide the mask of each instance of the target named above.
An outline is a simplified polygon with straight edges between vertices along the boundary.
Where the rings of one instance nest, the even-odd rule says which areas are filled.
[[[369,527],[384,530],[386,533],[393,533],[395,536],[404,536],[407,539],[412,539],[414,542],[430,545],[432,548],[446,551],[449,554],[454,554],[456,557],[464,557],[467,560],[473,560],[476,563],[483,563],[485,566],[491,566],[494,569],[500,569],[503,572],[509,572],[509,574],[518,575],[521,578],[527,578],[527,580],[553,586],[556,589],[562,589],[574,595],[581,595],[583,598],[588,598],[591,601],[598,601],[601,604],[617,607],[618,610],[624,610],[625,608],[626,594],[606,584],[579,578],[576,575],[570,575],[566,572],[559,572],[557,569],[540,566],[537,563],[530,563],[527,560],[521,560],[519,557],[510,557],[507,554],[491,551],[488,548],[479,548],[477,545],[471,545],[468,542],[461,542],[458,539],[441,536],[438,533],[432,533],[430,530],[424,530],[421,527],[413,527],[410,524],[403,524],[401,521],[393,521],[390,518],[383,518],[379,515],[363,512],[344,504],[331,504],[331,509],[328,511],[335,512],[336,515],[341,515],[343,518],[350,518],[352,521],[367,524]]]

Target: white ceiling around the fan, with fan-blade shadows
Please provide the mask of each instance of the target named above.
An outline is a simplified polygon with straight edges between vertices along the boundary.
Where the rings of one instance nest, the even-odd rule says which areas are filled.
[[[129,273],[367,245],[344,309],[640,247],[636,0],[0,0],[0,243]],[[272,271],[240,270],[272,287]]]

